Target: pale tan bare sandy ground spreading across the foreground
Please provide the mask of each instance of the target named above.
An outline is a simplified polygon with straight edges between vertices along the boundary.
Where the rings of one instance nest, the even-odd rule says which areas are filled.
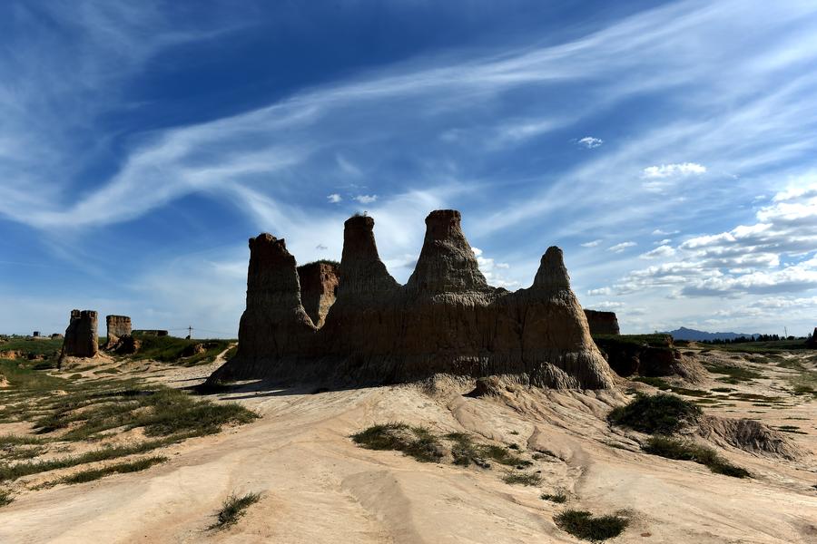
[[[186,386],[210,370],[150,375]],[[783,395],[786,372],[733,387]],[[699,384],[716,385],[723,384]],[[221,394],[213,398],[243,403],[261,419],[166,448],[170,461],[147,471],[24,492],[0,510],[0,542],[577,542],[553,522],[565,508],[623,511],[630,526],[614,542],[817,542],[817,401],[788,395],[783,407],[706,409],[805,432],[791,435],[805,452],[795,461],[722,450],[752,471],[740,480],[639,452],[627,432],[604,421],[621,393],[520,389],[472,398],[467,391],[444,382],[433,393],[405,385]],[[420,463],[349,440],[389,421],[474,432],[555,456],[536,461],[543,482],[525,487],[503,482],[496,467]],[[566,505],[539,498],[557,488],[568,492]],[[244,518],[207,530],[225,497],[247,491],[262,499]]]

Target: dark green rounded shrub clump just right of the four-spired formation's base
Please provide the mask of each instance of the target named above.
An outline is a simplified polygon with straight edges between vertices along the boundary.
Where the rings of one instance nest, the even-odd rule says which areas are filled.
[[[607,421],[647,434],[671,434],[700,415],[701,409],[671,394],[636,394],[607,414]]]

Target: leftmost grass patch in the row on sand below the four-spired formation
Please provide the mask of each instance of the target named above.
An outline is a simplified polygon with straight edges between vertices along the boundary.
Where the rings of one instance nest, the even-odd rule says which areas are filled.
[[[403,452],[417,461],[437,462],[442,458],[438,439],[427,428],[407,423],[372,425],[353,434],[351,439],[369,450]]]

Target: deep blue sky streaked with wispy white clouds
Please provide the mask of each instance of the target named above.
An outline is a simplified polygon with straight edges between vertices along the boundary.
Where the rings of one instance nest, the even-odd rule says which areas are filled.
[[[8,0],[0,48],[0,332],[234,336],[250,236],[365,210],[405,281],[440,208],[625,332],[817,325],[812,1]]]

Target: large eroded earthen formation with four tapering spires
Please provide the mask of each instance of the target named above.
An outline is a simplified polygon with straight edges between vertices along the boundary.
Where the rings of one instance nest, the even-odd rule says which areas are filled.
[[[570,289],[562,251],[548,248],[533,285],[490,287],[456,210],[433,211],[405,286],[380,261],[374,219],[344,226],[334,305],[316,327],[301,304],[295,258],[284,240],[250,240],[247,309],[236,356],[211,376],[354,384],[433,374],[516,375],[537,386],[613,386]]]

